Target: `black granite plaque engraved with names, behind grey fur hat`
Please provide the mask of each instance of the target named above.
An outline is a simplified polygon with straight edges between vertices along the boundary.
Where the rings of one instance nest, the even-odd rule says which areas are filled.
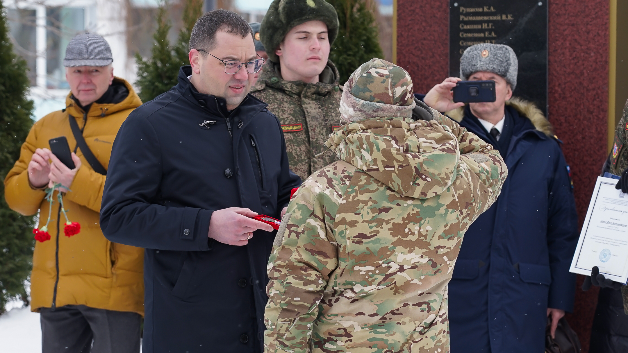
[[[460,57],[478,43],[505,44],[519,60],[514,97],[547,114],[548,0],[450,0],[449,73],[460,76]]]

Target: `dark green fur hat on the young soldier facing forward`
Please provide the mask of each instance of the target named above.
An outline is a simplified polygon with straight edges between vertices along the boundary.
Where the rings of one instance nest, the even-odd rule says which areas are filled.
[[[325,0],[274,0],[271,3],[259,28],[259,39],[272,62],[279,62],[275,50],[286,33],[307,21],[327,24],[329,45],[332,45],[338,35],[338,14],[332,4]]]

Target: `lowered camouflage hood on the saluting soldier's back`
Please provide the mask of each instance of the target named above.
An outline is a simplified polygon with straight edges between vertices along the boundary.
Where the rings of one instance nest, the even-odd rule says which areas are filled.
[[[335,130],[325,142],[338,158],[401,195],[440,195],[456,178],[460,151],[452,131],[435,121],[374,118]]]

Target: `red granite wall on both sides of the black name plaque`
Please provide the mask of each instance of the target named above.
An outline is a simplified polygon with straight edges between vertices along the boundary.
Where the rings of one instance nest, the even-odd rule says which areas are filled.
[[[412,75],[414,90],[426,93],[448,75],[447,0],[397,0],[397,63]],[[549,121],[565,143],[580,224],[593,184],[607,156],[609,1],[549,2]],[[580,290],[568,315],[588,352],[597,290]]]

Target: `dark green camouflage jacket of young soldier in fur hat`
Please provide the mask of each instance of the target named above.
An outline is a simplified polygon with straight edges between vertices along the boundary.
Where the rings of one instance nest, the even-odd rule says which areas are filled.
[[[266,102],[281,122],[290,169],[302,180],[337,160],[333,153],[316,155],[325,151],[323,143],[340,126],[339,77],[335,65],[328,62],[316,84],[285,81],[279,64],[268,62],[251,89],[251,94]]]

